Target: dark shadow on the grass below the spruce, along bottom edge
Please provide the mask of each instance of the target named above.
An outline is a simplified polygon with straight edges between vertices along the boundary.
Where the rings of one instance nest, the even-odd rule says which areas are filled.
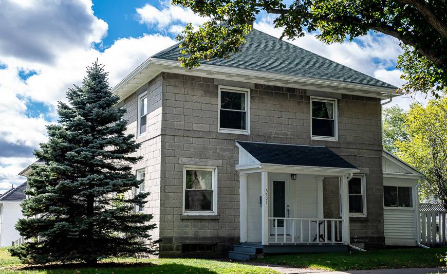
[[[91,266],[85,263],[72,263],[72,264],[45,264],[45,265],[30,265],[22,267],[8,268],[13,271],[40,273],[41,270],[44,273],[203,273],[211,274],[217,273],[211,271],[206,267],[196,267],[183,264],[166,263],[166,264],[153,264],[153,263],[98,263],[98,265]]]

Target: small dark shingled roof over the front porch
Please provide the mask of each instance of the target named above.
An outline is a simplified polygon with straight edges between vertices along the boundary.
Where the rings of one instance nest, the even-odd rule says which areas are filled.
[[[357,169],[330,149],[320,145],[297,145],[236,141],[260,163],[285,166]]]

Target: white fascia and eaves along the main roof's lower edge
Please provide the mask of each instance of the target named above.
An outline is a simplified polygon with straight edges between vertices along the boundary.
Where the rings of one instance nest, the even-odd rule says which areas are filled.
[[[120,81],[116,86],[114,86],[111,91],[113,93],[118,93],[118,90],[120,90],[122,87],[124,87],[129,82],[133,81],[133,79],[140,74],[140,72],[148,68],[152,65],[159,65],[162,67],[161,72],[163,71],[169,71],[170,68],[177,67],[177,68],[183,68],[180,65],[180,62],[174,61],[174,60],[165,60],[165,59],[158,59],[158,58],[148,58],[146,61],[144,61],[141,65],[139,65],[136,69],[134,69],[131,74],[126,76],[122,81]],[[213,71],[213,72],[221,72],[226,73],[229,75],[244,75],[247,77],[259,77],[259,78],[266,78],[271,80],[280,80],[280,81],[286,81],[289,83],[293,82],[299,82],[299,83],[306,83],[306,84],[315,84],[315,85],[322,85],[322,86],[331,86],[331,87],[337,87],[337,88],[350,88],[350,89],[356,89],[362,92],[367,93],[376,93],[375,95],[365,94],[364,96],[368,97],[376,97],[376,98],[382,98],[387,99],[390,97],[396,97],[402,95],[401,93],[396,93],[396,90],[394,88],[385,88],[385,87],[376,87],[376,86],[370,86],[370,85],[362,85],[362,84],[353,84],[353,83],[347,83],[347,82],[340,82],[340,81],[331,81],[331,80],[323,80],[323,79],[315,79],[315,78],[306,78],[306,77],[297,77],[297,76],[290,76],[290,75],[282,75],[282,74],[273,74],[270,72],[263,72],[263,71],[256,71],[256,70],[249,70],[249,69],[240,69],[240,68],[232,68],[232,67],[225,67],[225,66],[215,66],[215,65],[200,65],[198,68],[193,68],[189,71],[191,73],[194,73],[194,71]],[[159,72],[158,72],[159,73]],[[149,77],[152,79],[154,76]],[[213,77],[213,76],[210,76]],[[147,80],[150,80],[147,79]],[[250,81],[250,80],[246,80]],[[282,84],[284,86],[287,86],[287,84]],[[337,93],[337,91],[336,91]],[[343,93],[341,90],[339,93]],[[349,94],[349,93],[347,93]]]

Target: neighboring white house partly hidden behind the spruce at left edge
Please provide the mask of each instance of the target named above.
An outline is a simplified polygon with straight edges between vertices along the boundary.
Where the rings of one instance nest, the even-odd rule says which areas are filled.
[[[22,218],[20,204],[25,199],[25,189],[26,182],[0,195],[0,247],[10,246],[20,238],[15,224]]]

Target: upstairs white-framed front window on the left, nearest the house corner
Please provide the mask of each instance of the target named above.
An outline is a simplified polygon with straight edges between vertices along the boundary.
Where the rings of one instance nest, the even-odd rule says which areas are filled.
[[[250,89],[219,86],[218,132],[250,134]]]

